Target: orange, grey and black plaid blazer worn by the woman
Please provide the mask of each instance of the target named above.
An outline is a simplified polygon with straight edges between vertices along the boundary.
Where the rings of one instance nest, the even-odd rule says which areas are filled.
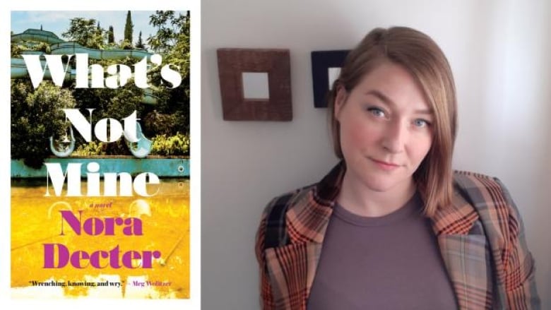
[[[341,162],[319,183],[266,206],[256,234],[262,309],[306,309],[344,171]],[[452,204],[431,220],[458,309],[540,309],[534,261],[504,185],[470,172],[456,172],[454,181]]]

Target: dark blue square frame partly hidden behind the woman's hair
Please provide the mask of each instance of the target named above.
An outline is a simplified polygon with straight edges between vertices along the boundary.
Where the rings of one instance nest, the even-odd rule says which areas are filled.
[[[314,107],[327,107],[327,94],[329,93],[328,68],[342,67],[348,52],[350,52],[348,49],[312,52]]]

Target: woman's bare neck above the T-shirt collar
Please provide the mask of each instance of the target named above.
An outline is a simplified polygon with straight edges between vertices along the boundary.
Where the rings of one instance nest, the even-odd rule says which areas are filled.
[[[370,189],[347,171],[337,201],[343,208],[357,215],[380,217],[403,207],[416,191],[413,178],[396,184],[386,191]]]

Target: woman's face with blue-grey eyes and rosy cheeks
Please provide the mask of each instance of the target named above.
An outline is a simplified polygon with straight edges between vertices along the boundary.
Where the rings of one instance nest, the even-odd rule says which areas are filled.
[[[335,117],[351,181],[378,192],[411,186],[432,143],[433,114],[405,68],[384,61],[350,93],[340,88]]]

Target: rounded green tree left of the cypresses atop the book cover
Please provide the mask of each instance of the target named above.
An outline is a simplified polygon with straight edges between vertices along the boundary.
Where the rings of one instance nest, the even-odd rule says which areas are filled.
[[[61,33],[69,41],[77,42],[84,47],[100,49],[103,47],[103,31],[93,18],[71,18],[66,32]]]

